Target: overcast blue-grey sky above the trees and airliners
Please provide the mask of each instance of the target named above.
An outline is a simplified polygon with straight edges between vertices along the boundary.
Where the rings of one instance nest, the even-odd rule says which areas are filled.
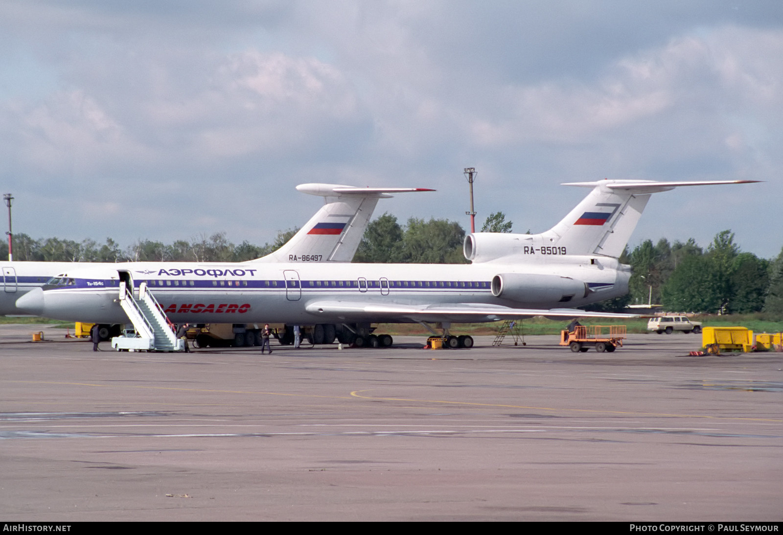
[[[435,188],[376,216],[469,230],[464,167],[516,232],[587,192],[561,182],[763,180],[656,194],[631,244],[774,257],[783,2],[0,0],[14,232],[262,245],[315,181]]]

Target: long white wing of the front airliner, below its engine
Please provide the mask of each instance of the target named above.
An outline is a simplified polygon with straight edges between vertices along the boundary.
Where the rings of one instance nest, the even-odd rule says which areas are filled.
[[[305,310],[311,314],[337,317],[343,321],[467,321],[484,322],[501,319],[532,318],[639,318],[639,314],[588,312],[576,308],[511,308],[478,303],[402,305],[363,301],[313,301]]]

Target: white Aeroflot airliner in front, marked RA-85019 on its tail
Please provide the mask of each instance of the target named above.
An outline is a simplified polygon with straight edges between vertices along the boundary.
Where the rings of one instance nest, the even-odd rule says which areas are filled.
[[[289,253],[295,261],[275,264],[103,264],[63,272],[16,306],[47,318],[121,324],[128,316],[118,290],[143,288],[174,323],[321,325],[358,345],[384,346],[391,336],[371,334],[370,324],[417,322],[436,324],[449,346],[468,347],[473,340],[453,336],[453,323],[632,317],[576,307],[628,292],[631,269],[619,256],[651,194],[750,182],[568,183],[591,191],[559,223],[535,235],[469,234],[464,254],[471,264],[330,264],[296,252]]]

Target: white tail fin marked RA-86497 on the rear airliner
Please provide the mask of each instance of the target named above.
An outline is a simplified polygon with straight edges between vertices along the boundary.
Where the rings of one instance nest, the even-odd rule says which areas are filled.
[[[322,196],[324,205],[284,246],[251,262],[350,262],[378,199],[391,197],[391,193],[435,191],[337,184],[301,184],[296,189]]]

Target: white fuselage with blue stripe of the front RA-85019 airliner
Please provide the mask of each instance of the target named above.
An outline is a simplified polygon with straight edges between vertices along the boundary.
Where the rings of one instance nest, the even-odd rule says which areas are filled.
[[[506,260],[506,259],[503,259]],[[510,259],[510,260],[513,260]],[[438,303],[480,303],[502,307],[578,307],[627,292],[630,271],[617,260],[601,257],[547,257],[546,261],[484,264],[106,264],[68,272],[64,284],[20,300],[20,306],[48,318],[95,323],[125,323],[117,303],[121,273],[127,271],[138,287],[146,282],[168,318],[175,323],[341,323],[380,321],[481,321],[475,317],[448,318],[443,314],[407,319],[395,311],[352,311],[352,303],[415,306]],[[547,301],[539,294],[525,299],[493,295],[499,274],[547,276],[583,282],[589,291]],[[554,275],[553,275],[554,274]],[[318,304],[341,303],[339,312],[319,311]]]

